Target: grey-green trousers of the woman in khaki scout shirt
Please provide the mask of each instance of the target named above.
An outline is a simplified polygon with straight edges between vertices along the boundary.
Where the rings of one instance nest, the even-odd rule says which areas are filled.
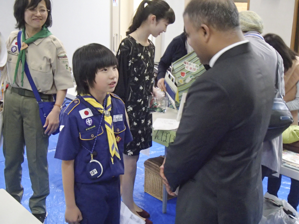
[[[29,199],[29,208],[33,214],[45,213],[46,197],[50,193],[47,161],[49,136],[44,134],[36,100],[34,97],[14,93],[9,88],[4,92],[3,110],[6,191],[19,203],[21,202],[24,192],[21,185],[21,164],[24,162],[24,146],[26,145],[33,190],[33,195]]]

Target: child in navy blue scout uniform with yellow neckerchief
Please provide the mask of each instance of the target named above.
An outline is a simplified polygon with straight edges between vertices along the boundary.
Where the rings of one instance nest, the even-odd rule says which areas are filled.
[[[125,105],[111,92],[118,81],[117,59],[107,47],[76,50],[73,72],[78,97],[61,115],[55,158],[62,161],[65,221],[120,223],[120,175],[124,144],[132,141]]]

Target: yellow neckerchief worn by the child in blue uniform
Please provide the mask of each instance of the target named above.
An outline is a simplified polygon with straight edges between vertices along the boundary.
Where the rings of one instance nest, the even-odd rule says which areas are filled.
[[[104,117],[105,117],[105,127],[107,130],[107,136],[108,136],[108,142],[109,142],[109,149],[110,149],[110,154],[111,154],[111,161],[113,164],[113,157],[116,155],[117,158],[121,159],[120,152],[117,147],[117,142],[115,139],[114,135],[114,130],[113,130],[113,121],[112,121],[112,116],[110,114],[112,105],[111,105],[111,96],[108,93],[107,94],[107,107],[106,110],[104,107],[94,99],[91,95],[81,95],[82,98],[88,102],[91,106],[93,106],[95,109],[97,109],[99,112],[103,113],[104,112]],[[101,124],[100,124],[101,125]]]

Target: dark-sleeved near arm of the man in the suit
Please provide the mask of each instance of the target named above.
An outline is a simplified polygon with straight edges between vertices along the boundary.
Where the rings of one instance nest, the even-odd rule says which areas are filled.
[[[228,94],[220,84],[197,80],[189,89],[164,164],[164,175],[173,192],[191,179],[212,155],[215,145],[229,130],[231,111]]]

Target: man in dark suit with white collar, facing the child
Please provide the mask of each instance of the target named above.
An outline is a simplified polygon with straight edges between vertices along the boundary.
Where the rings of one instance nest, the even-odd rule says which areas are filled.
[[[160,170],[170,193],[179,186],[175,223],[258,224],[273,73],[244,39],[233,0],[192,0],[184,25],[211,68],[190,87]]]

